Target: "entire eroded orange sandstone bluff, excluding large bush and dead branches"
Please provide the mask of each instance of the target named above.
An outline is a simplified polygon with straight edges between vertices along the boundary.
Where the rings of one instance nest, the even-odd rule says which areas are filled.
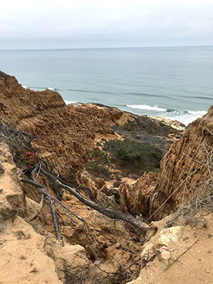
[[[48,204],[35,219],[30,218],[40,208],[40,195],[33,185],[23,185],[20,180],[29,177],[32,164],[29,168],[16,167],[11,147],[13,137],[5,136],[0,129],[2,284],[211,283],[212,251],[205,243],[212,241],[209,214],[212,207],[204,218],[196,211],[196,218],[202,221],[195,228],[192,224],[179,224],[180,220],[174,221],[168,214],[190,202],[201,187],[212,182],[212,108],[182,136],[185,128],[178,121],[136,116],[100,104],[67,106],[58,92],[23,89],[15,77],[0,72],[0,116],[1,125],[8,123],[15,132],[36,136],[28,137],[33,139],[33,152],[27,152],[33,155],[32,159],[37,152],[40,158],[53,163],[59,178],[89,187],[99,204],[118,212],[130,212],[151,223],[146,236],[141,236],[128,222],[109,219],[68,192],[62,192],[62,204],[84,218],[89,229],[82,222],[73,222],[59,208],[65,241],[61,246],[55,239]],[[97,178],[96,173],[85,171],[94,150],[103,150],[106,141],[112,139],[151,143],[163,153],[170,146],[160,163],[160,173],[143,173],[136,180],[133,167],[121,166],[121,161],[110,169],[114,175],[120,174],[120,180],[110,180],[104,175]],[[15,160],[18,165],[16,156]],[[40,182],[48,186],[44,177]],[[190,274],[180,273],[176,261],[191,245],[185,261],[180,262],[184,271],[190,269]],[[192,265],[202,272],[197,273]],[[14,268],[16,273],[11,273]]]

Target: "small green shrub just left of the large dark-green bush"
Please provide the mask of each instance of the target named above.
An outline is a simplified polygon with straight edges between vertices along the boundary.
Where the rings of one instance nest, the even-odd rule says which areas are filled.
[[[87,162],[87,170],[97,170],[99,172],[107,173],[110,164],[110,156],[107,153],[96,150],[92,153],[92,160]]]

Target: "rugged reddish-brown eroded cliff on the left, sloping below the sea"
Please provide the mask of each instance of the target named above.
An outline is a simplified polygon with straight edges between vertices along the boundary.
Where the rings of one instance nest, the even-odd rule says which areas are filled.
[[[88,159],[96,134],[114,134],[111,125],[121,114],[92,104],[66,106],[58,92],[34,92],[23,89],[15,77],[0,77],[0,116],[37,136],[33,146],[65,176],[71,166],[78,169]]]

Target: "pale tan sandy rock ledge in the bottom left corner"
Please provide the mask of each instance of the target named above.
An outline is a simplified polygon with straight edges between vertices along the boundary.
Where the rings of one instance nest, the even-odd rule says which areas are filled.
[[[0,144],[0,269],[1,283],[57,283],[55,265],[43,247],[45,237],[36,234],[21,216],[26,202],[18,182],[18,169],[6,144]],[[19,215],[19,216],[17,216]],[[11,273],[13,271],[13,273]]]

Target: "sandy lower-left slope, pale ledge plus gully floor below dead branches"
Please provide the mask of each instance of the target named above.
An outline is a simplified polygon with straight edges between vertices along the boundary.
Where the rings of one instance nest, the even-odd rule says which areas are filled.
[[[129,263],[133,271],[138,267],[136,259],[141,244],[131,241],[130,229],[65,194],[63,204],[87,219],[94,235],[81,222],[72,224],[60,210],[60,228],[65,241],[61,246],[53,233],[48,206],[44,206],[36,219],[29,220],[40,205],[33,187],[23,190],[20,175],[23,173],[16,168],[9,147],[0,143],[2,284],[123,284],[127,276],[131,279],[125,270],[129,269]],[[110,275],[110,281],[106,275]]]

